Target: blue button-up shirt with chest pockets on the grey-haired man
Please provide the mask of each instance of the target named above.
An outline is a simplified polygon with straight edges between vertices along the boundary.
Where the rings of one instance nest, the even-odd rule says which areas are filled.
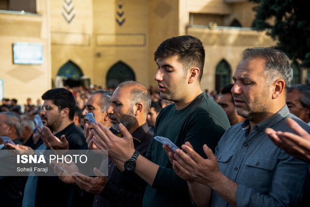
[[[310,132],[310,126],[290,114],[285,105],[277,114],[255,125],[250,133],[248,120],[233,125],[218,142],[215,152],[218,166],[226,177],[238,183],[238,207],[298,206],[307,164],[278,148],[264,133],[268,127],[292,132],[284,122],[288,117]],[[211,206],[230,205],[213,192]]]

